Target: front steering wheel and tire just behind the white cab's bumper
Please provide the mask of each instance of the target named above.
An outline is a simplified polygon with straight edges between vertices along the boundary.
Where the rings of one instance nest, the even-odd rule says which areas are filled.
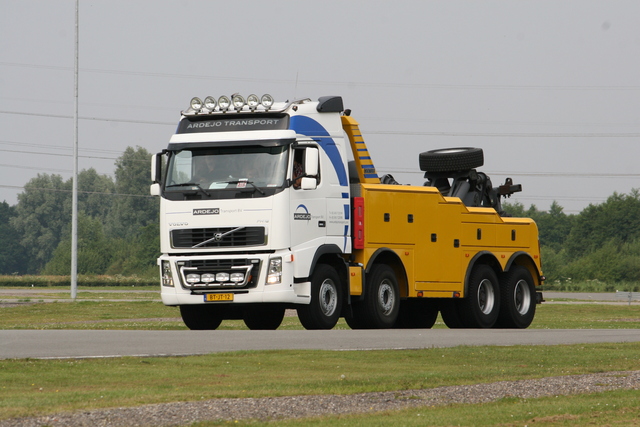
[[[311,276],[311,302],[298,306],[298,319],[305,329],[332,329],[338,323],[344,293],[340,276],[327,264],[319,264]]]

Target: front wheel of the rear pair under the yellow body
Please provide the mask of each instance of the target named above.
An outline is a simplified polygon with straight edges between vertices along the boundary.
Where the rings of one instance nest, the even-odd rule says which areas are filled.
[[[460,308],[465,328],[491,328],[496,323],[500,313],[500,285],[491,267],[481,264],[473,268]]]

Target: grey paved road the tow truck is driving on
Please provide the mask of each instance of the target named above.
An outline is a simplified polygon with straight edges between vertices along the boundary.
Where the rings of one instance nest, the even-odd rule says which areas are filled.
[[[638,329],[331,331],[0,331],[0,359],[192,355],[273,349],[418,349],[458,345],[638,342]]]

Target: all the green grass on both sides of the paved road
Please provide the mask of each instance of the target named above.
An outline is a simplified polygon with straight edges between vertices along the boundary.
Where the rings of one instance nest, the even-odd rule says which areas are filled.
[[[0,329],[186,329],[179,310],[158,302],[155,292],[130,293],[122,287],[92,289],[98,292],[80,288],[76,302],[2,307]],[[60,292],[59,295],[68,301],[68,293]],[[37,301],[50,296],[51,293],[42,293],[29,299]],[[117,301],[134,298],[135,301]],[[435,327],[445,328],[441,319]],[[301,328],[295,316],[286,317],[280,327]],[[347,326],[341,320],[337,328],[346,329]],[[640,328],[640,304],[542,304],[537,307],[531,328]],[[224,321],[220,329],[246,327],[242,321],[235,320]],[[262,351],[102,360],[1,360],[0,419],[145,403],[222,397],[353,394],[639,369],[640,343],[368,352]],[[637,390],[615,391],[533,400],[507,398],[478,405],[421,407],[273,423],[241,420],[197,425],[638,426],[638,401],[640,392]],[[613,407],[613,404],[617,406]]]

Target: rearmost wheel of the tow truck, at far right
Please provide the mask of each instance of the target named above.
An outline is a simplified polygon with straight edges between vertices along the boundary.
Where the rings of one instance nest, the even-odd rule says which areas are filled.
[[[500,314],[496,328],[527,328],[536,315],[536,290],[531,273],[514,266],[502,276]]]

